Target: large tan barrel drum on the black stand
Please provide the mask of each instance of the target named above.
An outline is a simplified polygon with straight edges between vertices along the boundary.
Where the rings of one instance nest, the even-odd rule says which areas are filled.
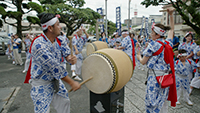
[[[120,90],[133,75],[130,57],[121,50],[101,49],[90,54],[82,65],[84,80],[89,90],[96,94],[111,93]]]

